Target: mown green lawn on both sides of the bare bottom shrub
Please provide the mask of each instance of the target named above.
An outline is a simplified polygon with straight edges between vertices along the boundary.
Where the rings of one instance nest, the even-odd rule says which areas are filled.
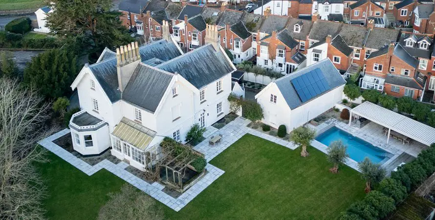
[[[342,166],[339,174],[331,174],[325,154],[312,147],[308,152],[310,156],[302,158],[299,149],[292,151],[246,134],[211,161],[225,174],[178,213],[161,204],[165,216],[334,219],[364,197],[365,185],[355,170]],[[121,179],[106,170],[87,176],[56,156],[50,159],[42,170],[49,178],[46,208],[51,219],[94,219],[106,194],[122,185]]]

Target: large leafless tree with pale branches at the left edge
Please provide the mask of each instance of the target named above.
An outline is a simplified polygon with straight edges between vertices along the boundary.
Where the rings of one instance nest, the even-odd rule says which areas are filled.
[[[52,130],[50,105],[36,90],[0,78],[0,219],[43,219],[45,188],[35,162],[43,162],[36,142]]]

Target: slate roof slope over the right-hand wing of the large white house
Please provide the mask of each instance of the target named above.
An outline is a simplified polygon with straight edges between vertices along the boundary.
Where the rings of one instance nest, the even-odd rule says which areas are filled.
[[[171,73],[178,72],[198,89],[236,70],[225,54],[217,52],[212,44],[201,46],[156,67]]]

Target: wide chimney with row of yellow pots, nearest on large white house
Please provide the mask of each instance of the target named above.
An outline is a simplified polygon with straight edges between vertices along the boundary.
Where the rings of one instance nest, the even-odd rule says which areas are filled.
[[[122,92],[127,86],[134,69],[141,58],[137,42],[116,48],[116,71],[118,75],[118,89]]]

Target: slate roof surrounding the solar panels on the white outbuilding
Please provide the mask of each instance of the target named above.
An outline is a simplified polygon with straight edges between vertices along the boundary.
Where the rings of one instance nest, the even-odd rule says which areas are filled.
[[[323,74],[325,75],[326,82],[330,89],[326,90],[324,93],[319,94],[316,97],[313,97],[312,99],[317,98],[320,95],[323,95],[334,88],[346,84],[346,81],[343,79],[341,74],[338,72],[337,68],[335,68],[335,66],[332,64],[332,62],[329,59],[324,59],[311,66],[304,67],[291,74],[283,76],[275,80],[275,84],[280,89],[281,94],[283,94],[283,97],[285,99],[285,102],[287,103],[287,105],[290,107],[291,110],[296,109],[299,106],[302,106],[303,104],[311,101],[312,99],[306,102],[302,102],[301,99],[299,98],[298,93],[296,92],[296,89],[293,87],[293,84],[290,82],[290,80],[298,76],[304,75],[305,73],[314,69],[320,69],[320,71],[323,72]]]

